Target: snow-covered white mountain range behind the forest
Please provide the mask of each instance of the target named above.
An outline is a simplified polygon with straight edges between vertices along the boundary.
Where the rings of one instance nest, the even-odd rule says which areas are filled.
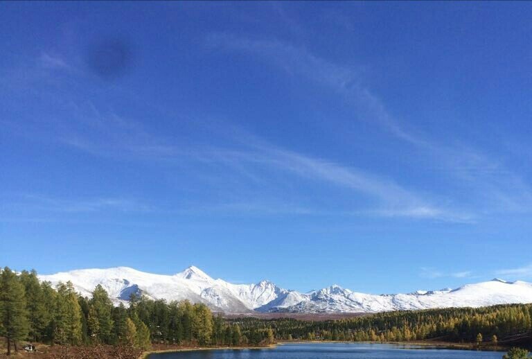
[[[454,290],[434,290],[396,295],[371,295],[330,286],[308,293],[279,288],[270,281],[232,284],[213,279],[194,266],[175,275],[140,272],[132,268],[87,269],[41,275],[53,285],[71,281],[83,296],[101,284],[115,304],[127,304],[132,293],[151,299],[204,303],[225,313],[377,313],[447,307],[479,307],[532,303],[532,283],[493,279]]]

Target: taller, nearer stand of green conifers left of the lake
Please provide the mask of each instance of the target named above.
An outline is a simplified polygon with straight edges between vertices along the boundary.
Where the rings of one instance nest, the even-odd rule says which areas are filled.
[[[52,288],[35,271],[0,274],[0,336],[8,352],[21,341],[49,344],[125,344],[148,349],[152,342],[199,345],[247,343],[238,324],[213,317],[204,304],[132,297],[129,308],[113,306],[96,287],[81,297],[71,283]],[[272,335],[273,341],[273,335]]]

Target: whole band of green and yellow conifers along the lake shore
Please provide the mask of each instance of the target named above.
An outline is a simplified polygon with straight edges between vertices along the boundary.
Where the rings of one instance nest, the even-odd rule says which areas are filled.
[[[531,347],[532,304],[378,313],[326,321],[254,317],[224,319],[204,304],[132,295],[114,306],[97,286],[90,298],[72,283],[55,288],[35,271],[0,272],[0,347],[7,355],[39,343],[46,358],[136,359],[161,346],[260,347],[279,341],[460,343]],[[53,349],[51,349],[53,348]],[[37,345],[39,350],[39,345]],[[526,356],[525,356],[526,357]],[[516,357],[519,358],[519,357]]]

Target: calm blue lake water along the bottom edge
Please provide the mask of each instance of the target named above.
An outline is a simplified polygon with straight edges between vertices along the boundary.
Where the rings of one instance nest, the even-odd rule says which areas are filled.
[[[495,351],[467,351],[396,344],[284,344],[274,349],[184,351],[149,359],[501,359]]]

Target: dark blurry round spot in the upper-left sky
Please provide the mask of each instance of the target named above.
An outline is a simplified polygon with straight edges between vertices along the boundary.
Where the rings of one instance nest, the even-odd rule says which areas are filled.
[[[123,76],[132,62],[132,49],[127,42],[106,37],[93,42],[87,51],[87,65],[100,78],[115,80]]]

